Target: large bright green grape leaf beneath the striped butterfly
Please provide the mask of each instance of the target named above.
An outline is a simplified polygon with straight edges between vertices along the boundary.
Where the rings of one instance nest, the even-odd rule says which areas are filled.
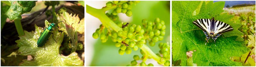
[[[193,63],[197,66],[241,66],[242,63],[231,61],[232,56],[241,56],[250,51],[244,46],[237,30],[241,25],[229,21],[234,16],[221,14],[225,2],[213,1],[172,1],[172,60],[181,60],[181,66],[187,66],[187,51],[193,51]],[[200,7],[198,7],[200,6]],[[200,11],[198,12],[198,9]],[[196,11],[196,12],[195,12]],[[194,14],[193,14],[194,13]],[[198,13],[196,15],[196,13]],[[209,39],[207,44],[203,30],[192,22],[196,19],[220,20],[232,26],[233,31],[222,33],[216,40]],[[179,18],[178,20],[175,18]],[[216,46],[215,46],[216,45]]]

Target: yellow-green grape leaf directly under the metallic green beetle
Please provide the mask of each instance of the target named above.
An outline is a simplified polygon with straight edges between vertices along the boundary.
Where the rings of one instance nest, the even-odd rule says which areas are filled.
[[[50,23],[46,20],[45,25]],[[37,47],[37,40],[40,33],[44,30],[35,25],[36,31],[24,31],[24,36],[19,36],[20,40],[15,41],[19,48],[19,53],[22,56],[35,56],[33,60],[23,60],[20,66],[83,66],[83,61],[78,57],[76,52],[71,53],[69,56],[62,56],[59,54],[61,42],[64,33],[53,30],[49,37],[49,41],[43,47]],[[54,38],[56,41],[54,41]]]

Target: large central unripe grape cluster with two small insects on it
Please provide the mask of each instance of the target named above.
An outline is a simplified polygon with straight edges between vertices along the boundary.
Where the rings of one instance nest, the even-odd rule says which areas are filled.
[[[140,25],[131,23],[117,22],[117,26],[121,27],[123,31],[113,31],[100,25],[95,33],[92,34],[94,39],[100,37],[101,42],[106,42],[108,36],[111,36],[112,41],[116,42],[116,47],[120,47],[118,53],[120,55],[131,54],[132,49],[137,51],[143,44],[146,44],[146,40],[149,40],[149,45],[154,46],[155,42],[164,39],[165,25],[164,21],[156,18],[154,22],[142,20],[143,27],[146,28],[146,32]],[[105,33],[107,32],[107,33]]]

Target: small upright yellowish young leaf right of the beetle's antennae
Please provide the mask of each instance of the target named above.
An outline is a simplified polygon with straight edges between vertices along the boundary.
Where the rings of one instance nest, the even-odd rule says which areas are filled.
[[[63,12],[62,14],[58,15],[58,20],[62,20],[63,23],[59,23],[60,26],[59,30],[67,33],[72,41],[72,51],[75,52],[78,44],[78,33],[84,33],[84,19],[80,20],[78,15],[69,14],[68,12]]]

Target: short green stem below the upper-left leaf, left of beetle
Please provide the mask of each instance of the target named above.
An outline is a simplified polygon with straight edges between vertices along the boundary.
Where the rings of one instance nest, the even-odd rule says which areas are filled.
[[[15,27],[16,27],[16,30],[17,30],[19,36],[25,35],[22,25],[21,25],[21,22],[20,22],[20,19],[14,19],[14,24],[15,24]]]

